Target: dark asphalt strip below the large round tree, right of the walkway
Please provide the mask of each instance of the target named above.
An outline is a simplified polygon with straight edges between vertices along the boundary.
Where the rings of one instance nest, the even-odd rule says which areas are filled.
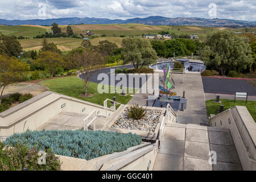
[[[234,94],[235,92],[248,92],[248,96],[256,96],[255,86],[249,80],[236,80],[228,78],[202,77],[205,93]]]

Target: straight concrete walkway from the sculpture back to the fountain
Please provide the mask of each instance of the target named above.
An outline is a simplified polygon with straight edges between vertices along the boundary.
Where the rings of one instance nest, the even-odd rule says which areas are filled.
[[[208,124],[207,109],[201,75],[197,73],[173,74],[177,96],[187,98],[187,109],[177,112],[178,123]]]

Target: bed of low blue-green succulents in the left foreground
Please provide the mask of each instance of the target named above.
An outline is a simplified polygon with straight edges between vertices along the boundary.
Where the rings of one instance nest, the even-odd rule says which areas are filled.
[[[113,152],[125,151],[129,147],[141,144],[142,139],[136,134],[107,131],[28,130],[5,140],[5,144],[10,146],[16,146],[18,143],[27,144],[30,148],[36,147],[38,150],[50,148],[57,155],[90,160]]]

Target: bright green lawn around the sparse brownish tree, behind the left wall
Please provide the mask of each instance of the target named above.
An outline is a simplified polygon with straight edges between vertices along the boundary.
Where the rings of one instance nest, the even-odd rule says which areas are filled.
[[[90,82],[88,93],[94,94],[93,97],[84,98],[79,97],[81,93],[84,93],[84,88],[82,86],[82,80],[76,76],[72,77],[63,77],[56,78],[52,80],[42,81],[40,84],[47,86],[51,91],[64,94],[66,96],[71,96],[75,98],[79,98],[80,100],[92,102],[98,105],[104,105],[103,102],[109,98],[113,99],[113,97],[117,98],[117,102],[121,104],[127,104],[130,101],[132,96],[128,94],[128,96],[119,96],[118,93],[98,93],[97,86],[98,84],[94,82]],[[110,88],[109,88],[110,90]]]

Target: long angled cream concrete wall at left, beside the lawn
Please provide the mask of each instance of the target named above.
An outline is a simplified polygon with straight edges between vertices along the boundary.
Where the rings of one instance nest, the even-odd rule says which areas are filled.
[[[90,114],[94,109],[98,115],[105,116],[106,110],[103,106],[55,92],[44,92],[0,113],[0,138],[22,133],[27,129],[35,130],[62,111]],[[112,113],[113,111],[108,109],[108,114]]]

